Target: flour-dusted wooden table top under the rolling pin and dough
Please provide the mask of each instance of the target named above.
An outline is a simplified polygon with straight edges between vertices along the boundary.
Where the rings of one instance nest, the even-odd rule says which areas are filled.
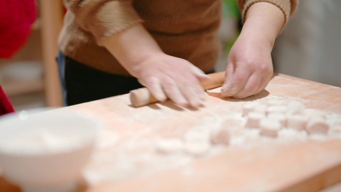
[[[269,98],[296,99],[341,115],[341,88],[283,74],[275,74],[258,95],[213,95],[199,109],[171,102],[133,108],[129,95],[122,95],[58,110],[91,110],[105,122],[102,147],[85,170],[87,192],[316,192],[341,182],[341,137],[250,140],[204,157],[155,153],[154,141],[181,137],[193,127],[241,126],[234,116],[241,117],[243,104]]]

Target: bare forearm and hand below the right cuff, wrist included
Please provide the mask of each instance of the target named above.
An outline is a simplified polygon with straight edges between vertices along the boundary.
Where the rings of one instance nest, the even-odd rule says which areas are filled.
[[[282,10],[256,2],[247,10],[243,29],[227,58],[222,96],[244,98],[263,90],[271,79],[271,50],[283,27]]]

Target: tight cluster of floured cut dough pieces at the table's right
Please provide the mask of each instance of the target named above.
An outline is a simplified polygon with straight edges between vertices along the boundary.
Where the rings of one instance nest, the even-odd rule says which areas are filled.
[[[247,103],[243,106],[243,116],[247,118],[245,127],[259,128],[262,135],[270,137],[276,137],[283,128],[324,135],[330,129],[324,111],[306,109],[303,103],[295,100],[287,105],[275,100],[270,100],[265,104]]]

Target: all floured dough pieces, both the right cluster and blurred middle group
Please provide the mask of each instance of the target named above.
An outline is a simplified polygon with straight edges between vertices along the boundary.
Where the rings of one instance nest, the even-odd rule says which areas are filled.
[[[239,130],[256,128],[261,136],[271,138],[280,137],[281,131],[290,132],[291,130],[290,133],[296,131],[298,134],[305,132],[308,135],[327,135],[330,130],[327,112],[308,109],[297,100],[246,102],[241,119],[245,120],[245,124],[241,124]],[[229,127],[192,128],[180,138],[158,140],[155,146],[160,154],[189,154],[200,157],[208,154],[214,146],[234,145],[232,143],[238,138],[232,137],[233,135]]]

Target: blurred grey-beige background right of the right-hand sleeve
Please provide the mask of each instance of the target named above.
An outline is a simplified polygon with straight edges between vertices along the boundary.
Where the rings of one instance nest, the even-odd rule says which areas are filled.
[[[341,0],[300,0],[273,59],[277,72],[341,87]]]

